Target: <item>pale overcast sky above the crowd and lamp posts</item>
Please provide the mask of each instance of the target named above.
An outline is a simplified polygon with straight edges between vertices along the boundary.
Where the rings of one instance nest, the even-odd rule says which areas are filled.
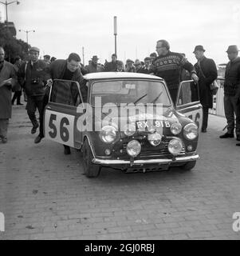
[[[41,56],[68,58],[85,52],[85,65],[93,55],[111,60],[115,51],[113,17],[117,17],[117,55],[126,61],[144,60],[159,39],[166,39],[171,51],[185,53],[194,64],[192,53],[203,45],[208,58],[217,64],[228,62],[229,45],[240,48],[239,0],[19,0],[8,6],[9,22],[29,33],[29,43]],[[10,0],[8,0],[10,2]],[[5,6],[0,5],[5,20]],[[26,33],[17,33],[26,41]]]

